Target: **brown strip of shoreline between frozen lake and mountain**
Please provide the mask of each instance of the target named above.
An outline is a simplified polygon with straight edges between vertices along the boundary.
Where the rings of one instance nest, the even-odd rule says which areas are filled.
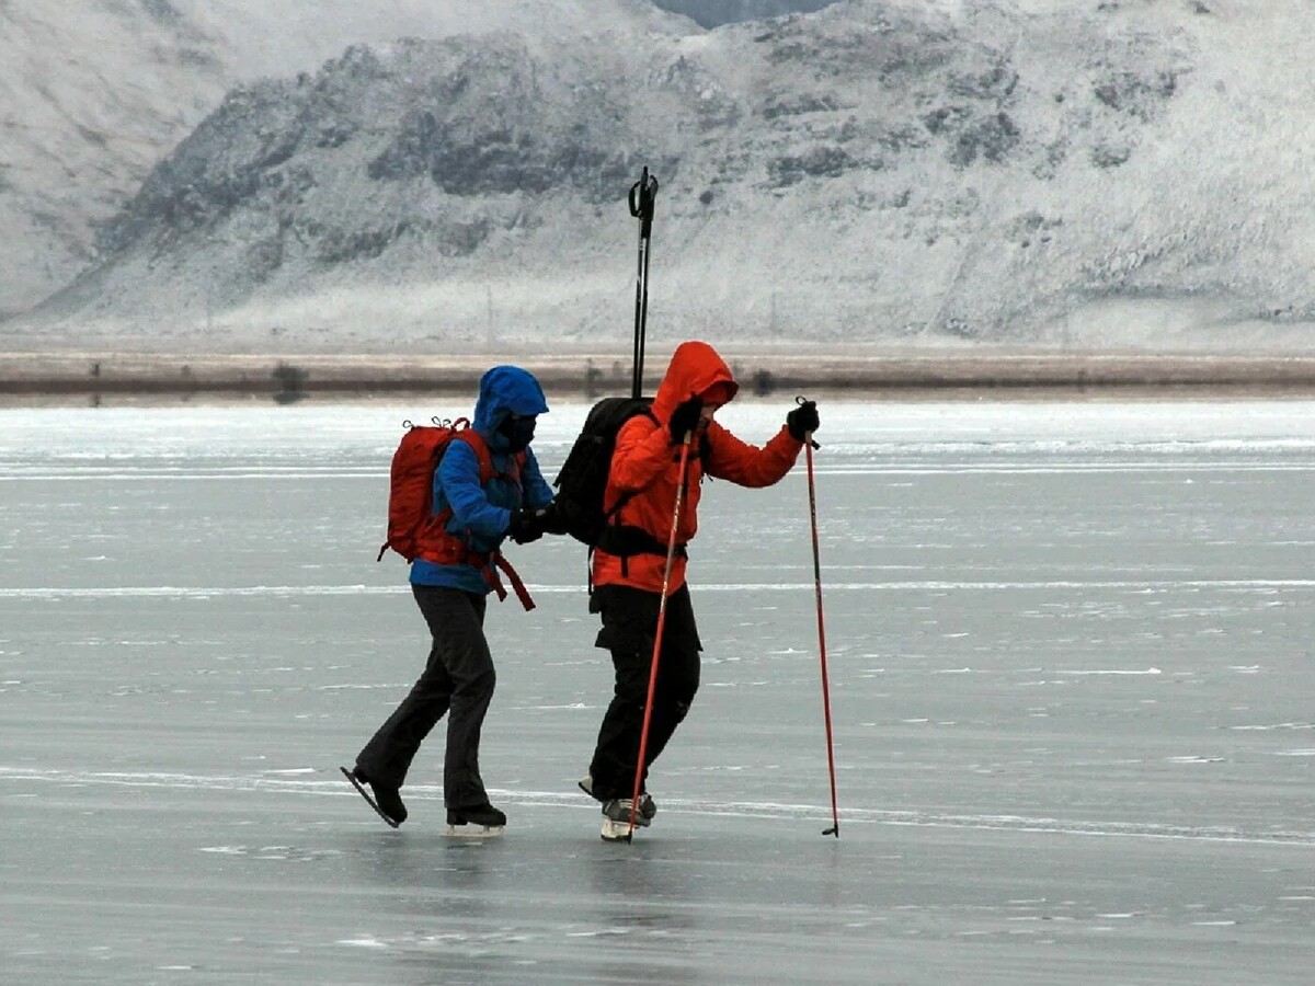
[[[746,394],[849,393],[871,400],[1095,397],[1315,397],[1315,355],[901,351],[725,352]],[[650,354],[652,392],[667,352]],[[469,393],[488,367],[515,362],[544,390],[581,398],[629,392],[631,354],[170,355],[97,351],[0,352],[0,398],[370,397]]]

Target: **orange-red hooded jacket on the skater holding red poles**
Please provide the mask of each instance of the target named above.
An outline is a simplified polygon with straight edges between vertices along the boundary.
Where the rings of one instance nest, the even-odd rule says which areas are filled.
[[[604,506],[611,510],[623,494],[630,494],[615,517],[618,523],[639,527],[660,544],[667,544],[676,509],[681,451],[672,440],[668,422],[680,404],[707,394],[714,388],[721,390],[718,397],[730,400],[739,385],[726,362],[706,342],[681,343],[672,354],[667,375],[658,387],[652,418],[639,414],[627,421],[617,434],[617,451],[611,456]],[[700,455],[701,447],[706,458]],[[742,442],[715,421],[709,422],[704,440],[700,442],[696,435],[690,444],[676,543],[692,540],[698,530],[698,494],[704,473],[740,486],[771,486],[790,471],[801,448],[803,443],[796,440],[784,425],[767,446],[759,448]],[[593,584],[629,585],[659,593],[665,567],[667,559],[663,555],[631,555],[623,564],[617,555],[596,550]],[[685,559],[677,555],[672,563],[668,590],[676,592],[684,584]]]

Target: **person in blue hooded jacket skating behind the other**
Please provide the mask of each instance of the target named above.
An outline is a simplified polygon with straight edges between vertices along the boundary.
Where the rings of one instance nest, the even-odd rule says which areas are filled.
[[[493,367],[480,380],[471,425],[473,444],[452,440],[434,472],[433,514],[450,510],[451,515],[422,544],[410,567],[412,593],[433,647],[425,672],[356,756],[352,770],[359,782],[370,785],[380,812],[393,824],[406,819],[400,789],[412,759],[444,714],[448,826],[500,830],[506,824],[506,815],[489,805],[480,777],[480,728],[496,682],[484,611],[489,592],[504,594],[492,568],[502,540],[510,535],[526,543],[544,532],[552,489],[530,440],[537,417],[547,410],[543,389],[531,373]],[[480,439],[496,472],[487,482],[481,482]]]

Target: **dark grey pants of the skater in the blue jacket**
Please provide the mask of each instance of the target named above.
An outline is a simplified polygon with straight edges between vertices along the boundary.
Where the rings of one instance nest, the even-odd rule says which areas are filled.
[[[447,713],[443,802],[450,809],[488,803],[480,780],[480,728],[493,699],[493,656],[484,639],[484,596],[434,585],[413,585],[433,647],[425,673],[356,756],[372,781],[401,787],[412,759]]]

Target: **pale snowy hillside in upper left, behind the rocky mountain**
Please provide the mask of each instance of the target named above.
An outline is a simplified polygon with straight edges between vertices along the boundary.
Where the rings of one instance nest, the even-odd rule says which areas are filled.
[[[600,21],[697,30],[644,0],[4,0],[0,318],[92,260],[96,225],[233,85],[359,42]]]

